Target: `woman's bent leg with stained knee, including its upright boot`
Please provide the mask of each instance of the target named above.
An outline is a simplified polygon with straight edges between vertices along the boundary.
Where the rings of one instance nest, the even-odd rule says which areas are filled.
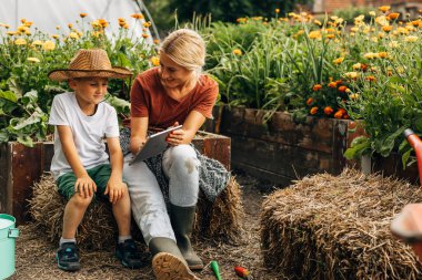
[[[163,170],[169,177],[170,217],[178,247],[190,269],[202,269],[190,237],[199,193],[199,160],[189,145],[169,148],[163,156]]]

